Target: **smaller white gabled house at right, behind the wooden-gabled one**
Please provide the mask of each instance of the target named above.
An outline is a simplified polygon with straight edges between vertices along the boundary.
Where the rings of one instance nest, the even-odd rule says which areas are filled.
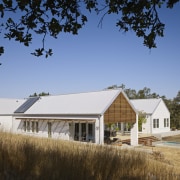
[[[131,100],[137,111],[146,114],[142,124],[142,133],[156,134],[170,131],[170,112],[164,101],[159,99]]]

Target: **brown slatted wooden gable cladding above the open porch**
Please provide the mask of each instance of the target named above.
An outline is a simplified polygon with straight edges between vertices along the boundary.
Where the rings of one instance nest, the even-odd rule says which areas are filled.
[[[122,93],[104,113],[104,123],[136,122],[136,113]]]

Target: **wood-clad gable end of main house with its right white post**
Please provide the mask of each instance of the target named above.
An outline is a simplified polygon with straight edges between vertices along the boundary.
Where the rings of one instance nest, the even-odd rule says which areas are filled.
[[[125,126],[129,126],[130,144],[138,145],[138,113],[129,99],[122,92],[104,113],[105,130],[114,124],[121,133],[124,133]]]

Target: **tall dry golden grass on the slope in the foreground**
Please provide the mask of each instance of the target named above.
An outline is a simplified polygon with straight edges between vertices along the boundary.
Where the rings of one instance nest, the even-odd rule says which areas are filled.
[[[179,179],[147,153],[0,133],[0,179]]]

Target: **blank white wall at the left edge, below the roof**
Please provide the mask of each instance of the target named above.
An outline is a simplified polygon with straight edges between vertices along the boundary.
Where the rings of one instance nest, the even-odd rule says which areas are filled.
[[[11,132],[12,130],[12,116],[0,116],[0,130]]]

